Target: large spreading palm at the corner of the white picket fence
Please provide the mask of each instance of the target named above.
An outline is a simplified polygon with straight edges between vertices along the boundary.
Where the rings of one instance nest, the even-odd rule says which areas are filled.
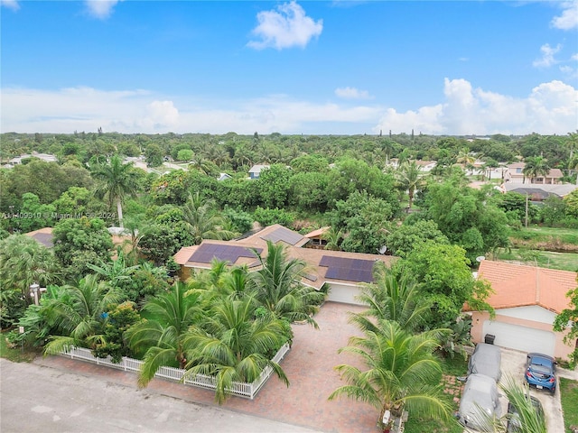
[[[223,299],[184,338],[189,361],[183,380],[197,374],[214,376],[219,404],[227,399],[232,382],[254,382],[266,367],[288,386],[283,369],[270,359],[286,340],[283,320],[272,314],[256,318],[255,299]]]

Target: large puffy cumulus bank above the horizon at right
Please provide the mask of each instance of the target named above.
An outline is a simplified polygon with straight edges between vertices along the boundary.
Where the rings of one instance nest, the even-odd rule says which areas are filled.
[[[576,129],[578,90],[561,81],[533,88],[527,98],[474,89],[464,79],[445,78],[445,101],[417,111],[390,108],[380,129],[424,134],[567,134]]]

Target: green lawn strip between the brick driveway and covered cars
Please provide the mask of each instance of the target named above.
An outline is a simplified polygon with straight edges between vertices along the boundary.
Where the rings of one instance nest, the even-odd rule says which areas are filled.
[[[463,383],[459,382],[456,377],[464,376],[468,370],[468,363],[460,355],[452,358],[443,358],[443,385],[444,393],[449,399],[453,401],[453,412],[457,412],[459,407],[459,399],[461,397],[461,389]],[[420,419],[412,417],[411,414],[405,424],[405,433],[461,433],[463,427],[454,418],[443,422],[438,419]]]

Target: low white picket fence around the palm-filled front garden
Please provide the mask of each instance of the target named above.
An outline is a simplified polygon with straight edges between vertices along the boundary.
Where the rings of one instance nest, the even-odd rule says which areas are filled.
[[[284,344],[277,351],[272,361],[278,364],[284,358],[284,355],[287,352],[289,352],[289,350],[290,350],[289,344]],[[116,364],[112,362],[110,356],[107,356],[107,358],[98,358],[96,356],[93,356],[90,353],[89,349],[85,349],[82,347],[70,348],[70,350],[68,351],[61,352],[60,355],[70,357],[71,359],[79,359],[81,361],[87,361],[89,363],[117,368],[118,370],[124,370],[125,372],[139,372],[141,369],[141,365],[144,364],[143,361],[128,358],[126,356],[123,356],[122,361]],[[184,375],[185,372],[186,372],[185,370],[182,370],[180,368],[161,367],[154,374],[154,377],[161,377],[163,379],[169,379],[175,382],[182,382],[185,385],[199,386],[200,388],[208,388],[210,390],[214,390],[217,388],[215,378],[213,376],[197,374],[194,377],[182,380],[182,376]],[[265,370],[261,372],[260,376],[256,379],[255,382],[251,383],[233,382],[233,386],[231,387],[231,389],[228,390],[228,392],[230,392],[233,395],[238,395],[239,397],[245,397],[253,400],[256,396],[256,393],[259,392],[259,390],[267,382],[267,379],[271,377],[272,373],[273,369],[267,366]]]

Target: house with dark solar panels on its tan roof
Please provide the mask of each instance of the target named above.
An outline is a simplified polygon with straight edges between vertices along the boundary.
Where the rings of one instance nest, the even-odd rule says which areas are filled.
[[[254,235],[233,241],[204,240],[200,245],[183,247],[174,255],[181,265],[181,278],[186,280],[193,270],[210,269],[213,259],[230,265],[247,265],[249,272],[257,271],[260,263],[254,251],[266,254],[267,241],[283,244],[289,258],[303,260],[307,264],[302,282],[315,290],[324,284],[330,288],[328,300],[359,304],[360,283],[373,281],[373,267],[377,262],[390,265],[395,258],[390,255],[346,253],[305,248],[311,242],[284,226],[267,226]]]

